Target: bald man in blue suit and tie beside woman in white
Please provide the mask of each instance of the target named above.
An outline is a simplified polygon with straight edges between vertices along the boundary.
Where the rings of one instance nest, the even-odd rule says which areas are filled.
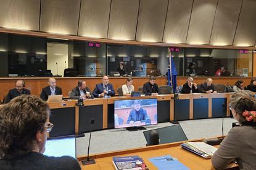
[[[112,84],[109,83],[109,77],[107,77],[107,75],[103,76],[102,83],[96,85],[93,90],[93,95],[96,98],[103,98],[115,95],[114,87]]]

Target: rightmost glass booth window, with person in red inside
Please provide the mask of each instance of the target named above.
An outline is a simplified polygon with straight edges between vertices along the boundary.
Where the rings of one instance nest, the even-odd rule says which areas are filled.
[[[252,76],[252,50],[184,48],[184,76]]]

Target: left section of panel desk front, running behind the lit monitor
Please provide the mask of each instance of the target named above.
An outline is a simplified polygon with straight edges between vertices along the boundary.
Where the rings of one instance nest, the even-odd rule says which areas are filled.
[[[157,99],[158,122],[169,122],[171,110],[173,110],[173,105],[171,105],[173,95],[85,99],[83,101],[84,106],[76,106],[77,100],[49,102],[51,108],[49,122],[54,124],[49,137],[88,132],[91,118],[95,120],[93,131],[114,128],[115,100],[150,98]]]

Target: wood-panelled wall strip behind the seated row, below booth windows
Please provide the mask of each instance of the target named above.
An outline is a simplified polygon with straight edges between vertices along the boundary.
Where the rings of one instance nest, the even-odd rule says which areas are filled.
[[[26,87],[31,90],[32,95],[37,95],[41,93],[43,87],[46,87],[48,78],[24,78]],[[115,91],[117,93],[117,88],[122,87],[126,83],[127,77],[110,77],[109,83],[114,85]],[[188,77],[177,77],[177,85],[183,85]],[[194,82],[200,85],[204,83],[207,77],[194,77]],[[234,85],[238,79],[244,80],[244,85],[250,83],[251,77],[212,77],[214,84]],[[8,93],[11,88],[14,88],[15,82],[19,80],[17,78],[1,78],[0,79],[0,99]],[[97,83],[101,83],[102,77],[73,77],[73,78],[56,78],[57,86],[62,88],[62,93],[64,96],[68,96],[68,91],[72,90],[77,86],[78,80],[86,80],[86,85],[89,89],[93,91]],[[149,80],[148,77],[133,77],[134,90],[138,90],[138,87],[143,86]],[[157,77],[157,84],[167,85],[167,77]]]

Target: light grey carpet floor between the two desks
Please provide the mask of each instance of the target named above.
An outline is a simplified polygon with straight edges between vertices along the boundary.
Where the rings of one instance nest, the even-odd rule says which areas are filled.
[[[224,135],[231,129],[234,118],[224,118]],[[207,118],[201,120],[180,121],[184,133],[188,139],[221,136],[222,118]],[[159,123],[158,125],[146,126],[147,130],[171,126],[171,123]],[[89,142],[89,133],[85,137],[76,139],[76,155],[86,155]],[[91,135],[90,154],[112,152],[115,150],[144,147],[146,139],[143,131],[127,131],[126,129],[107,129],[94,131]]]

